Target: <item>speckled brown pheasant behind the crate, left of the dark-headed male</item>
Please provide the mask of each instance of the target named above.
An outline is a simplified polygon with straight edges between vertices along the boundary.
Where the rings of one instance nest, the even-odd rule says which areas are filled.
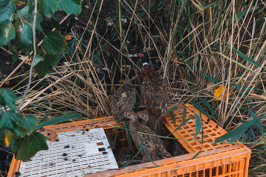
[[[135,89],[128,79],[125,79],[123,86],[110,96],[109,104],[112,116],[117,122],[124,119],[124,113],[133,109],[136,102]]]

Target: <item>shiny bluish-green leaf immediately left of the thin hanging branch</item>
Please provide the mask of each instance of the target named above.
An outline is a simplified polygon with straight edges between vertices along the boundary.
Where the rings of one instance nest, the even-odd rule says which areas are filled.
[[[19,40],[18,47],[27,51],[33,41],[33,28],[30,25],[19,25],[16,39]]]

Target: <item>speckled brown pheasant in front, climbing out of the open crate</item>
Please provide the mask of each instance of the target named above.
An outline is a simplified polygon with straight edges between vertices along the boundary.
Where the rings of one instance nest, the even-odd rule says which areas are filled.
[[[149,154],[149,156],[153,161],[171,157],[171,154],[167,152],[163,141],[159,137],[152,136],[156,135],[154,131],[152,131],[149,127],[141,124],[137,120],[138,117],[133,111],[126,112],[125,118],[130,120],[129,127],[131,130],[136,132],[151,134],[151,135],[146,135],[142,133],[138,134],[136,132],[131,132],[131,136],[134,144],[136,145],[136,148],[138,149],[140,148],[140,144],[142,141],[144,148],[146,149],[147,153]],[[141,150],[141,154],[143,156],[141,163],[150,161],[144,150]]]

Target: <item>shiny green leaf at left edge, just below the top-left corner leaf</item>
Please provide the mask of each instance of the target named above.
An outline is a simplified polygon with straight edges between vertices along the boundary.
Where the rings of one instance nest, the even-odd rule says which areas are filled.
[[[15,27],[12,23],[2,23],[0,26],[0,46],[15,38]]]

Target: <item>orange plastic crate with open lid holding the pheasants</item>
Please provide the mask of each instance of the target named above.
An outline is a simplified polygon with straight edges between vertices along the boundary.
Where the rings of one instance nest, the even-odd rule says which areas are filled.
[[[172,107],[172,106],[171,106]],[[171,107],[168,107],[171,108]],[[183,106],[178,106],[173,111],[176,118],[176,127],[183,122]],[[199,115],[199,111],[191,105],[186,105],[186,119]],[[203,141],[213,142],[217,137],[227,133],[224,129],[201,114],[203,126]],[[111,125],[119,126],[113,117],[97,118],[98,122],[83,120],[59,125],[44,127],[44,134],[52,129],[57,132],[80,130],[86,128],[103,127],[106,134],[114,133]],[[104,123],[104,124],[102,124]],[[171,114],[166,114],[164,124],[170,132],[175,130],[175,123]],[[193,140],[195,133],[195,118],[190,119],[184,126],[173,133],[176,138]],[[125,139],[125,131],[118,130],[121,148],[129,148]],[[201,140],[200,131],[196,140]],[[133,165],[126,168],[109,170],[90,174],[85,177],[247,177],[248,164],[251,150],[243,144],[223,144],[223,143],[203,143],[201,142],[179,141],[189,154],[171,157],[168,159]],[[228,142],[228,141],[225,141]],[[237,141],[237,143],[239,143]],[[197,153],[198,156],[192,159]],[[20,161],[13,157],[8,177],[15,177],[15,172],[19,170]],[[154,168],[153,168],[154,167]]]

